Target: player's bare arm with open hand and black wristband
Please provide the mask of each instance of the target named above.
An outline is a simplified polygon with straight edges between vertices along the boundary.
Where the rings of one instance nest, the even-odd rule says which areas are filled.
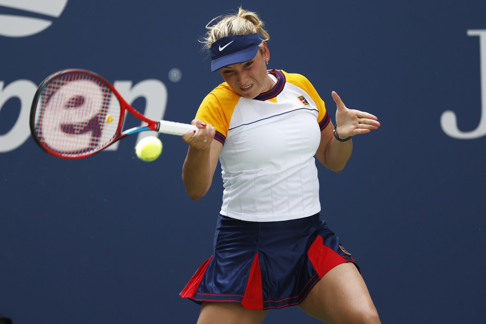
[[[332,91],[332,98],[336,102],[336,133],[340,139],[349,136],[369,133],[371,129],[380,126],[378,118],[367,112],[348,109],[336,92]],[[325,167],[336,173],[341,172],[353,150],[352,140],[340,142],[334,138],[334,127],[328,125],[321,131],[321,142],[315,157]]]

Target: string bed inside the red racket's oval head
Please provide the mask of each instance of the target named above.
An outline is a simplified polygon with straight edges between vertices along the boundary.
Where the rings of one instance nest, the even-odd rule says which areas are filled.
[[[60,74],[40,91],[35,111],[37,139],[48,150],[79,157],[109,144],[121,127],[120,103],[96,77]]]

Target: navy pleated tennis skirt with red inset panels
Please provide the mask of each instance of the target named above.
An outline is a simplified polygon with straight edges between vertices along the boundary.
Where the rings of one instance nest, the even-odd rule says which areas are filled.
[[[297,305],[320,278],[344,262],[356,265],[319,214],[276,222],[220,215],[214,253],[180,296],[198,304],[241,303],[248,309]]]

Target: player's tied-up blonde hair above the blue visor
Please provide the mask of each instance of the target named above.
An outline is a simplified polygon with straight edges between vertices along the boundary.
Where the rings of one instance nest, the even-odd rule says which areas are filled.
[[[213,21],[216,23],[209,26]],[[226,36],[249,35],[258,33],[261,40],[269,40],[270,35],[263,29],[264,23],[258,14],[238,8],[238,13],[233,15],[219,16],[206,25],[208,32],[199,41],[203,43],[203,49],[210,49],[211,45],[220,38]],[[260,50],[263,44],[259,45]]]

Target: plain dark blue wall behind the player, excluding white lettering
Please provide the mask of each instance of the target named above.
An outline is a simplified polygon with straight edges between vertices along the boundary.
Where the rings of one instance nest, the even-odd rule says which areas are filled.
[[[461,131],[479,125],[480,37],[467,30],[486,29],[486,2],[69,0],[58,17],[8,2],[0,15],[52,25],[0,36],[0,142],[17,119],[27,125],[30,108],[20,95],[5,100],[6,87],[66,68],[134,85],[160,80],[164,119],[190,123],[222,81],[197,41],[205,25],[240,4],[259,12],[269,68],[307,76],[333,120],[335,90],[382,124],[353,138],[340,174],[318,166],[321,215],[359,263],[382,323],[484,322],[486,138],[452,138],[440,118],[452,110]],[[29,82],[20,84],[28,97]],[[135,136],[77,161],[19,138],[15,149],[0,144],[0,313],[15,324],[195,323],[199,307],[178,293],[212,253],[219,171],[194,202],[180,179],[180,137],[160,135],[164,151],[151,163],[135,157]],[[289,307],[264,323],[318,322]]]

